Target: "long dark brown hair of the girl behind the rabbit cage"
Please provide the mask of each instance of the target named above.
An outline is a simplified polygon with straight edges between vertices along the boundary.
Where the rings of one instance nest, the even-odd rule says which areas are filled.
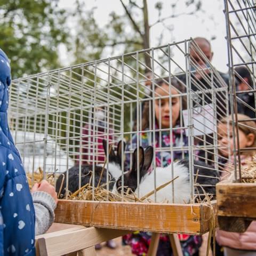
[[[164,79],[156,79],[155,84],[158,86],[155,86],[155,89],[157,87],[161,87],[163,84],[169,85],[169,78]],[[177,89],[178,93],[185,93],[186,87],[185,85],[181,84],[176,78],[171,79],[171,86]],[[153,97],[153,92],[150,93],[150,99]],[[181,103],[182,103],[182,109],[187,109],[187,100],[186,96],[181,96]],[[154,102],[155,103],[155,102]],[[143,104],[143,110],[142,110],[142,119],[141,119],[141,130],[145,130],[149,127],[149,117],[151,116],[151,120],[153,121],[153,108],[152,108],[152,100],[147,100]],[[151,113],[149,113],[151,106]],[[180,118],[179,118],[180,119]],[[178,121],[179,121],[178,119]],[[137,130],[137,120],[134,122],[133,131]]]

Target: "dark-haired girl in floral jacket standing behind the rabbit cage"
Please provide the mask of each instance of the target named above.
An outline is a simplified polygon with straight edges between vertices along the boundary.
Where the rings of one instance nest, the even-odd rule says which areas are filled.
[[[166,79],[165,79],[166,80]],[[180,127],[180,114],[181,109],[187,109],[186,98],[177,96],[171,99],[171,112],[170,116],[170,105],[169,97],[163,98],[169,95],[169,85],[168,82],[164,80],[159,80],[156,82],[155,86],[155,97],[161,97],[161,99],[156,99],[153,104],[155,104],[155,129],[169,129],[170,119],[173,128]],[[178,95],[185,91],[183,87],[176,79],[171,81],[171,94]],[[150,98],[152,95],[150,95]],[[152,107],[152,106],[151,106]],[[155,132],[155,142],[153,143],[153,133],[147,132],[150,127],[150,118],[153,121],[153,114],[149,111],[149,102],[145,103],[142,113],[142,127],[140,130],[143,132],[139,134],[140,146],[146,148],[149,145],[154,145],[155,148],[169,148],[171,145],[170,141],[170,131]],[[152,109],[152,108],[151,108]],[[183,147],[188,146],[188,138],[186,137],[185,131],[182,129],[174,129],[172,133],[173,147]],[[137,135],[135,134],[132,138],[131,145],[127,145],[126,150],[134,149],[137,147]],[[183,156],[188,155],[188,151],[173,151],[173,159],[181,159]],[[169,151],[156,151],[156,166],[167,166],[171,163],[171,152]],[[126,165],[130,164],[130,154],[126,156]],[[199,247],[202,244],[201,236],[189,236],[180,235],[180,242],[184,255],[199,255]],[[151,233],[149,232],[135,232],[131,235],[126,235],[123,237],[123,242],[129,244],[132,247],[132,253],[136,255],[146,255],[148,247],[150,244]],[[157,250],[157,255],[172,255],[172,249],[169,237],[167,235],[161,235],[159,246]]]

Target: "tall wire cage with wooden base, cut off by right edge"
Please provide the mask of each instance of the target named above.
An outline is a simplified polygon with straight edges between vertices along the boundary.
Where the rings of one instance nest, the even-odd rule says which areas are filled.
[[[218,223],[222,230],[244,232],[256,219],[255,143],[247,135],[256,130],[256,2],[225,0],[228,67],[230,76],[229,159],[231,175],[217,185]],[[242,131],[242,132],[241,132]],[[226,133],[227,133],[226,132]],[[243,138],[243,135],[246,136]],[[254,136],[254,135],[253,135]],[[254,141],[255,141],[255,137]],[[220,138],[221,140],[221,138]],[[233,145],[233,147],[230,146]],[[234,173],[234,175],[233,175]]]

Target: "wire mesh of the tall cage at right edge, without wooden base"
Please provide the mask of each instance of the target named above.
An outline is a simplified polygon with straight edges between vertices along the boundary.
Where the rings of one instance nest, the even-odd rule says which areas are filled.
[[[239,95],[241,93],[253,94],[254,106],[256,102],[256,1],[255,0],[225,0],[225,15],[227,25],[227,45],[228,45],[228,66],[230,74],[230,91],[231,91],[231,114],[233,116],[232,130],[234,143],[235,159],[235,179],[242,181],[241,173],[241,154],[245,151],[255,151],[256,148],[241,148],[239,145],[238,127],[245,126],[246,120],[238,119],[237,102],[254,112],[252,121],[256,121],[255,107],[248,105]],[[252,85],[244,81],[243,77],[235,70],[236,67],[245,66],[252,77]],[[247,84],[248,90],[238,91],[236,79],[241,79]],[[251,127],[254,129],[253,127]],[[238,143],[236,143],[238,141]],[[238,162],[238,163],[237,163]],[[237,177],[238,169],[238,177]]]

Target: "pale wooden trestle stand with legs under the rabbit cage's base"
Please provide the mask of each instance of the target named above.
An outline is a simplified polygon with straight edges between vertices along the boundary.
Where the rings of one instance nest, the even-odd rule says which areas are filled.
[[[36,236],[36,256],[96,256],[95,245],[131,233],[129,230],[104,229],[53,223],[47,234]],[[160,233],[153,233],[148,255],[156,256]],[[182,256],[177,234],[170,234],[173,256]]]

